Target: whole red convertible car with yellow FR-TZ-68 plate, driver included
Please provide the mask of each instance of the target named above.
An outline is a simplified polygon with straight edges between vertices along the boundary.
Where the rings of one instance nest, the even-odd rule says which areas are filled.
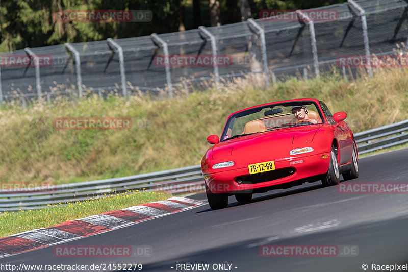
[[[359,176],[354,135],[345,112],[331,114],[316,99],[268,103],[228,117],[202,158],[207,199],[225,208],[228,196],[248,202],[253,193],[321,180],[337,185]]]

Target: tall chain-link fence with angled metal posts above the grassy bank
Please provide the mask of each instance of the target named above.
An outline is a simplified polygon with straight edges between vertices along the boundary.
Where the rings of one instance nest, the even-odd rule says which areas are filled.
[[[371,64],[339,65],[339,58],[392,55],[395,44],[407,41],[407,14],[401,0],[348,0],[221,27],[4,52],[0,101],[172,96],[248,74],[259,75],[264,86],[333,69],[345,79],[359,70],[370,74]],[[28,56],[36,61],[25,63]]]

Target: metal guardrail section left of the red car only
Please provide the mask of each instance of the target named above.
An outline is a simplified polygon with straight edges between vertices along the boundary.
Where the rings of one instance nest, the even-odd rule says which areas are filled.
[[[188,166],[135,176],[95,180],[70,184],[48,185],[0,193],[0,211],[18,211],[22,208],[45,208],[47,205],[85,201],[90,197],[103,197],[111,192],[127,190],[165,191],[181,193],[203,189],[200,165]],[[5,190],[2,190],[5,192]]]

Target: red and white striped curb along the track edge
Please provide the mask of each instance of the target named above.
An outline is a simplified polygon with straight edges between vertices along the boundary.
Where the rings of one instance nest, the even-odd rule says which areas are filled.
[[[204,203],[200,201],[174,196],[165,201],[146,203],[67,221],[54,227],[17,233],[0,238],[0,258],[137,224],[144,220],[188,210],[202,204]]]

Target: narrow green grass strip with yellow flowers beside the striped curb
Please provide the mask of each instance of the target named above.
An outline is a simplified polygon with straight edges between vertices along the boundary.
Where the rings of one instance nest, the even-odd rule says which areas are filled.
[[[20,209],[19,212],[0,213],[0,237],[38,228],[52,227],[63,222],[108,211],[119,210],[148,202],[166,200],[167,193],[127,191],[112,193],[99,199],[49,205],[43,209]]]

